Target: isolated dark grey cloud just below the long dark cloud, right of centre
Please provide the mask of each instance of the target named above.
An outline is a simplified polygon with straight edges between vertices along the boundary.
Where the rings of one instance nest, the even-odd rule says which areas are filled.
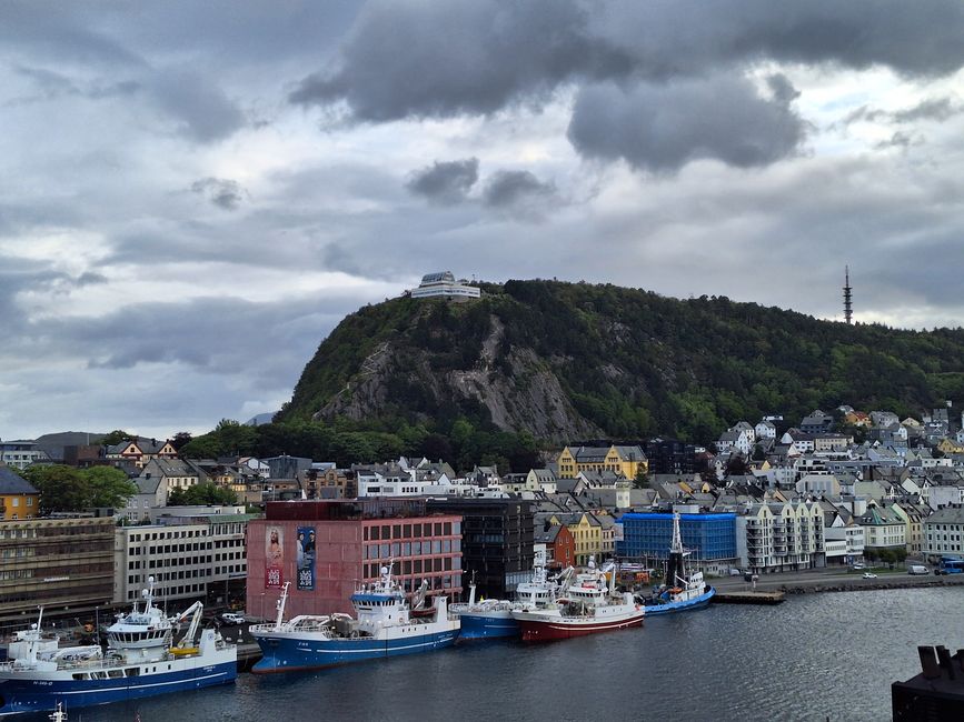
[[[584,88],[568,136],[584,156],[658,172],[698,159],[766,166],[797,150],[805,126],[786,100],[761,97],[745,78],[714,76],[630,90]]]

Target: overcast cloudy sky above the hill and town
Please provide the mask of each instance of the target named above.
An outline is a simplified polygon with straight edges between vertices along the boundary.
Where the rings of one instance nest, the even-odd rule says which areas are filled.
[[[451,270],[960,325],[956,0],[0,4],[0,439],[275,411]]]

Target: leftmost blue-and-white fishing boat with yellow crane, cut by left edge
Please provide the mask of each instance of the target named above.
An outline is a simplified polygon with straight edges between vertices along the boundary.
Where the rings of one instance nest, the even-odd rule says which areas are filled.
[[[153,605],[151,576],[142,600],[107,630],[108,646],[59,646],[42,633],[43,610],[30,629],[17,632],[9,661],[0,664],[0,715],[56,711],[183,692],[232,682],[238,651],[215,630],[201,631],[203,605],[196,602],[168,618]],[[190,619],[177,645],[175,625]]]

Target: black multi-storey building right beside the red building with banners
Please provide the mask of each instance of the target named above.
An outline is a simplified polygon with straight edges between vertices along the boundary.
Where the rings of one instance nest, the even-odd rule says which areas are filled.
[[[533,572],[533,509],[520,499],[428,499],[429,513],[459,515],[463,571],[477,593],[506,599]]]

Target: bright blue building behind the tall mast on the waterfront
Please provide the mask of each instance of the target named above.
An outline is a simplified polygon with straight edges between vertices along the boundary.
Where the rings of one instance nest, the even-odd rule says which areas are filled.
[[[619,520],[623,541],[616,541],[620,559],[659,560],[669,556],[673,514],[629,513]],[[736,514],[679,514],[683,545],[708,566],[725,568],[736,559]]]

